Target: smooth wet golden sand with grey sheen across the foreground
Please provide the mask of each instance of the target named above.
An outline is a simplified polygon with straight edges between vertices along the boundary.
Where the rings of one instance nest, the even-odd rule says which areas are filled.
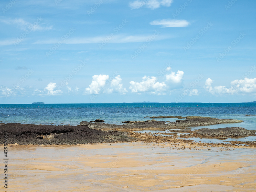
[[[8,189],[0,190],[256,191],[255,148],[185,145],[8,146]]]

